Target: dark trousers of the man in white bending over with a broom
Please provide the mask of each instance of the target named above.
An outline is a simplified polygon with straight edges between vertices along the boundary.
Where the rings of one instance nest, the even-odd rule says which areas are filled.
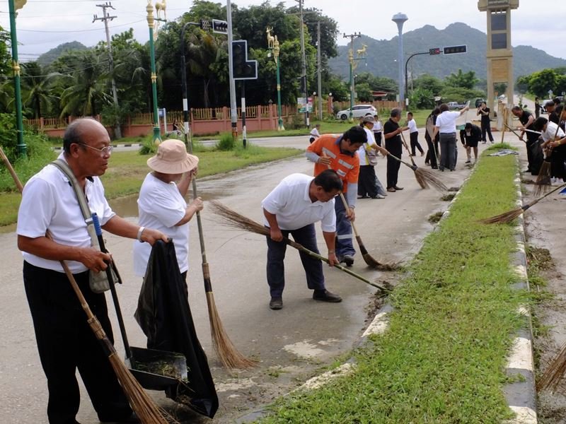
[[[293,240],[303,245],[311,252],[319,253],[316,246],[314,224],[306,225],[297,230],[281,230],[283,237],[293,236]],[[285,252],[287,243],[275,242],[267,236],[267,284],[270,285],[272,298],[281,298],[285,288]],[[301,262],[306,275],[306,285],[311,290],[324,290],[323,263],[308,254],[299,251]]]

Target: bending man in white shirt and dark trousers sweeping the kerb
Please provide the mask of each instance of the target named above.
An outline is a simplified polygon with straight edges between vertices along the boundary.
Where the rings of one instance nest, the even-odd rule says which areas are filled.
[[[292,235],[306,249],[318,253],[314,223],[320,221],[328,247],[328,261],[330,266],[337,264],[334,197],[341,190],[342,180],[334,170],[325,170],[316,177],[291,174],[262,200],[264,224],[270,229],[270,235],[267,236],[267,283],[270,285],[272,310],[283,307],[287,249],[284,237]],[[299,252],[299,255],[305,269],[307,287],[314,290],[313,299],[341,302],[340,296],[325,288],[322,262],[304,252]]]

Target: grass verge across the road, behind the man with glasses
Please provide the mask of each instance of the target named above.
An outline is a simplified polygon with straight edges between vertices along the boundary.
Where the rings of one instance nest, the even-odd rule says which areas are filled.
[[[266,148],[253,144],[248,145],[246,149],[240,146],[233,151],[216,151],[211,148],[203,148],[202,150],[202,152],[197,153],[200,158],[199,177],[223,174],[257,163],[290,158],[303,152],[294,148]],[[137,193],[141,182],[149,172],[146,161],[150,157],[151,155],[139,155],[137,151],[112,153],[110,167],[101,177],[106,197],[115,199],[119,196]],[[55,154],[53,154],[52,159],[54,158],[56,158]],[[45,166],[48,161],[44,160],[42,163],[34,161],[29,164],[26,163],[25,166],[16,163],[16,173],[21,176],[22,182],[25,184],[29,177]],[[16,222],[18,207],[20,206],[20,194],[6,192],[8,189],[15,190],[16,187],[8,172],[2,171],[0,172],[0,187],[4,188],[4,192],[0,189],[0,225],[9,225]]]

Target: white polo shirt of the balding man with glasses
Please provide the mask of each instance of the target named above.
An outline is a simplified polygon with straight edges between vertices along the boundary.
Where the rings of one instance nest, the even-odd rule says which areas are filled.
[[[59,159],[65,160],[64,153]],[[65,160],[66,161],[66,160]],[[115,216],[104,197],[104,187],[100,178],[86,180],[85,194],[91,212],[98,214],[100,225]],[[25,184],[22,201],[18,211],[18,235],[37,238],[45,236],[49,229],[53,240],[60,245],[90,247],[91,237],[86,230],[81,206],[67,176],[54,165],[45,166]],[[64,272],[59,261],[52,261],[22,252],[23,259],[40,268]],[[67,261],[72,273],[86,271],[81,262]]]

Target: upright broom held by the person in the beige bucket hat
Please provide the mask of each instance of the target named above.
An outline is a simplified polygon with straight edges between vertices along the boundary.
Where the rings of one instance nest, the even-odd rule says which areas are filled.
[[[185,132],[185,144],[189,148],[189,153],[192,153],[192,141],[189,134]],[[197,182],[195,177],[192,177],[192,196],[197,198]],[[212,344],[214,351],[220,359],[221,363],[226,368],[250,368],[258,364],[258,361],[251,360],[242,355],[236,346],[230,340],[224,325],[220,319],[218,310],[216,309],[216,302],[214,302],[214,294],[212,293],[212,282],[210,281],[210,270],[207,261],[207,252],[204,247],[204,232],[202,231],[202,220],[200,218],[200,211],[197,211],[197,227],[199,230],[200,253],[202,257],[202,278],[204,279],[204,292],[207,295],[208,316],[210,322],[210,334],[212,336]]]

